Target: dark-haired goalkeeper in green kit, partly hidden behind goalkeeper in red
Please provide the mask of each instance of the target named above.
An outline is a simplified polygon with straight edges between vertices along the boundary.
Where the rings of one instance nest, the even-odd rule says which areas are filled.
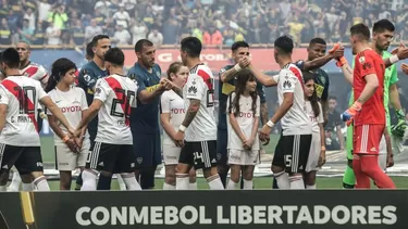
[[[386,50],[388,49],[391,41],[394,38],[394,30],[395,27],[393,23],[387,20],[381,20],[374,23],[372,29],[372,42],[371,49],[373,49],[376,53],[379,53],[387,67],[385,69],[384,75],[384,107],[386,112],[386,128],[384,131],[383,139],[380,143],[380,152],[379,152],[379,165],[382,169],[386,169],[386,167],[391,167],[394,164],[393,161],[393,148],[394,150],[399,150],[399,144],[403,140],[405,130],[407,128],[407,122],[405,118],[405,112],[400,105],[398,88],[396,82],[398,81],[397,77],[397,69],[394,63],[399,61],[400,59],[406,59],[406,49],[405,47],[400,47],[398,49],[398,53],[392,55]],[[391,127],[390,122],[390,111],[388,111],[388,102],[395,109],[396,114],[398,116],[398,123]],[[349,105],[354,103],[354,96],[351,92]],[[347,128],[347,167],[346,171],[343,177],[343,187],[345,189],[353,189],[356,183],[355,174],[353,170],[353,125]],[[393,144],[391,143],[390,132],[393,135]]]

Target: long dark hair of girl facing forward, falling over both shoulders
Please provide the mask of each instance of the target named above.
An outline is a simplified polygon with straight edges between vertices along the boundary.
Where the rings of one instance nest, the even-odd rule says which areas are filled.
[[[254,73],[250,69],[242,69],[236,74],[236,80],[235,80],[235,91],[231,92],[230,94],[230,109],[228,113],[233,113],[234,111],[234,116],[239,115],[239,97],[244,93],[245,88],[247,86],[247,81],[256,80]],[[232,93],[235,93],[235,98],[233,101],[231,101],[231,96]],[[249,96],[252,98],[252,113],[255,116],[255,113],[257,112],[257,98],[258,98],[258,92],[252,91],[249,93]]]

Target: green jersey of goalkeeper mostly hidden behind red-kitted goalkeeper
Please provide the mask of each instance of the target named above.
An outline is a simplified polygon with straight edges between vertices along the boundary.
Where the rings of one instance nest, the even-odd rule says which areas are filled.
[[[383,59],[390,58],[392,54],[390,52],[383,52]],[[354,59],[353,59],[353,67],[354,67]],[[397,76],[397,68],[395,64],[391,65],[385,69],[384,75],[384,109],[385,109],[385,118],[386,118],[386,128],[388,132],[391,132],[391,118],[390,118],[390,86],[396,84],[398,81]],[[351,90],[350,99],[348,102],[348,106],[350,106],[355,102],[354,100],[354,93]],[[347,128],[347,151],[350,153],[353,150],[353,126],[349,126]]]

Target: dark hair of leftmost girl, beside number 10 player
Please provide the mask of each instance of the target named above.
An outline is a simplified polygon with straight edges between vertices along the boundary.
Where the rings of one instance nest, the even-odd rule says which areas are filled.
[[[51,75],[48,79],[45,91],[50,92],[53,90],[57,84],[61,80],[61,77],[63,77],[70,69],[77,69],[75,63],[70,59],[60,58],[53,62],[51,66]]]

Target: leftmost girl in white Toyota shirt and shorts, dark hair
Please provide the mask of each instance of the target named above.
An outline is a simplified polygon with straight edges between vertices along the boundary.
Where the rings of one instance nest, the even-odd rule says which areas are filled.
[[[70,125],[76,127],[84,112],[88,109],[83,89],[72,87],[75,82],[76,65],[69,59],[62,58],[53,62],[51,77],[48,80],[46,92],[60,107]],[[67,130],[57,122],[47,111],[48,122],[54,132],[55,168],[60,171],[60,190],[71,190],[72,171],[84,169],[89,153],[90,141],[86,128],[83,128],[78,145],[70,139]]]

